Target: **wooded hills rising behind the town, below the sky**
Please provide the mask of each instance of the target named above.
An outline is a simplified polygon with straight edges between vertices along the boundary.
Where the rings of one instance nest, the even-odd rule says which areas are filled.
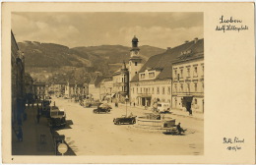
[[[123,61],[130,58],[130,47],[122,45],[101,45],[69,48],[55,43],[24,41],[18,43],[25,53],[26,71],[37,79],[47,80],[54,74],[68,76],[75,70],[83,69],[86,75],[100,72],[111,75]],[[144,61],[149,57],[164,52],[164,49],[153,46],[141,46],[140,54]],[[72,76],[69,76],[72,79]]]

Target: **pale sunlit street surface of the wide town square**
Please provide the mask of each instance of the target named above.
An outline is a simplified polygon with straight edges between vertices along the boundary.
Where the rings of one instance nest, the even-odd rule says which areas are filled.
[[[113,105],[109,114],[94,114],[94,108],[84,108],[70,99],[53,98],[64,108],[67,124],[56,131],[65,135],[66,142],[76,155],[202,155],[204,154],[204,121],[174,116],[176,124],[187,129],[184,136],[164,135],[161,131],[148,131],[133,125],[114,125],[113,118],[125,115],[126,106]],[[142,116],[142,108],[127,105],[127,114]]]

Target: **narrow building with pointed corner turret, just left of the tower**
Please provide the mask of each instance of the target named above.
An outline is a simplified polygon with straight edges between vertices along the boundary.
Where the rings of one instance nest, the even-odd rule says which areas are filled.
[[[125,62],[120,70],[113,75],[113,92],[116,102],[124,102],[129,96],[129,71],[126,68]]]

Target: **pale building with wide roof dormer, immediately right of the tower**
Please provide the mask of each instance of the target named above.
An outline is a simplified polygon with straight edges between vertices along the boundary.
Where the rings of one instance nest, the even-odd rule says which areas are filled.
[[[171,62],[175,55],[171,49],[152,56],[130,83],[130,101],[139,106],[152,106],[154,102],[171,104]]]

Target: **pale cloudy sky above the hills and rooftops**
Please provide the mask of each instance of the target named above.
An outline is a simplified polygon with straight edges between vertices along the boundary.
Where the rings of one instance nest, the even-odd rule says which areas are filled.
[[[25,40],[72,47],[140,45],[174,47],[204,37],[203,13],[12,13],[12,30]]]

